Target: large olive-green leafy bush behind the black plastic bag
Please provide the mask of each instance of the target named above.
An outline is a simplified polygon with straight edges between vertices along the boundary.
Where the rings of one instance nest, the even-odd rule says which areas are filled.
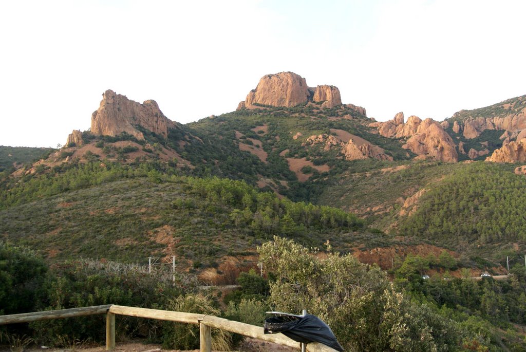
[[[488,320],[469,312],[456,314],[432,299],[413,298],[390,283],[377,266],[363,265],[351,255],[332,254],[330,247],[320,259],[291,240],[275,237],[259,253],[265,269],[275,277],[270,281],[270,304],[296,314],[308,307],[309,313],[331,327],[346,350],[499,351],[513,347],[518,351],[526,347],[516,332],[512,334],[511,325],[507,337],[514,339],[500,339]],[[444,295],[453,291],[442,286]],[[482,290],[482,301],[484,295]],[[505,320],[500,321],[505,325]]]

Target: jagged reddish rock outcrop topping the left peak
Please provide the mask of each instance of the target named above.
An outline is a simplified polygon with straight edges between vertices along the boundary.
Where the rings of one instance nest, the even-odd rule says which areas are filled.
[[[155,100],[140,104],[113,90],[106,90],[98,110],[92,114],[92,133],[117,136],[126,132],[137,139],[144,139],[137,125],[165,138],[168,137],[168,129],[177,126],[166,118]]]

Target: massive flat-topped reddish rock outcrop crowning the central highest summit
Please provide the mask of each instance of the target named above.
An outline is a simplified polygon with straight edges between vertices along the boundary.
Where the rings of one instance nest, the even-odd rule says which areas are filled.
[[[261,105],[292,107],[307,102],[322,103],[324,108],[341,105],[340,90],[329,85],[309,87],[305,78],[294,72],[269,74],[261,77],[256,89],[250,90],[237,109],[252,109]]]

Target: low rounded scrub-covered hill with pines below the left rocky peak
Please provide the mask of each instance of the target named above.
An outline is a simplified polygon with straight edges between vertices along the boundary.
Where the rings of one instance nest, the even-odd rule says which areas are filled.
[[[146,174],[1,210],[0,233],[53,260],[83,256],[135,262],[163,255],[173,242],[177,246],[169,254],[179,255],[181,265],[185,258],[200,268],[217,265],[222,255],[246,255],[273,235],[314,246],[328,238],[349,242],[348,233],[363,227],[343,210],[279,199],[241,181],[167,176],[155,169]],[[60,177],[49,180],[62,182]]]

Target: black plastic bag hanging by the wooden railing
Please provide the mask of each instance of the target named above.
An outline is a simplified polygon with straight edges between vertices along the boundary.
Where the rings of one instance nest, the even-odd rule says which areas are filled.
[[[265,334],[281,333],[295,341],[308,344],[319,342],[343,352],[330,327],[315,315],[282,315],[265,319]]]

